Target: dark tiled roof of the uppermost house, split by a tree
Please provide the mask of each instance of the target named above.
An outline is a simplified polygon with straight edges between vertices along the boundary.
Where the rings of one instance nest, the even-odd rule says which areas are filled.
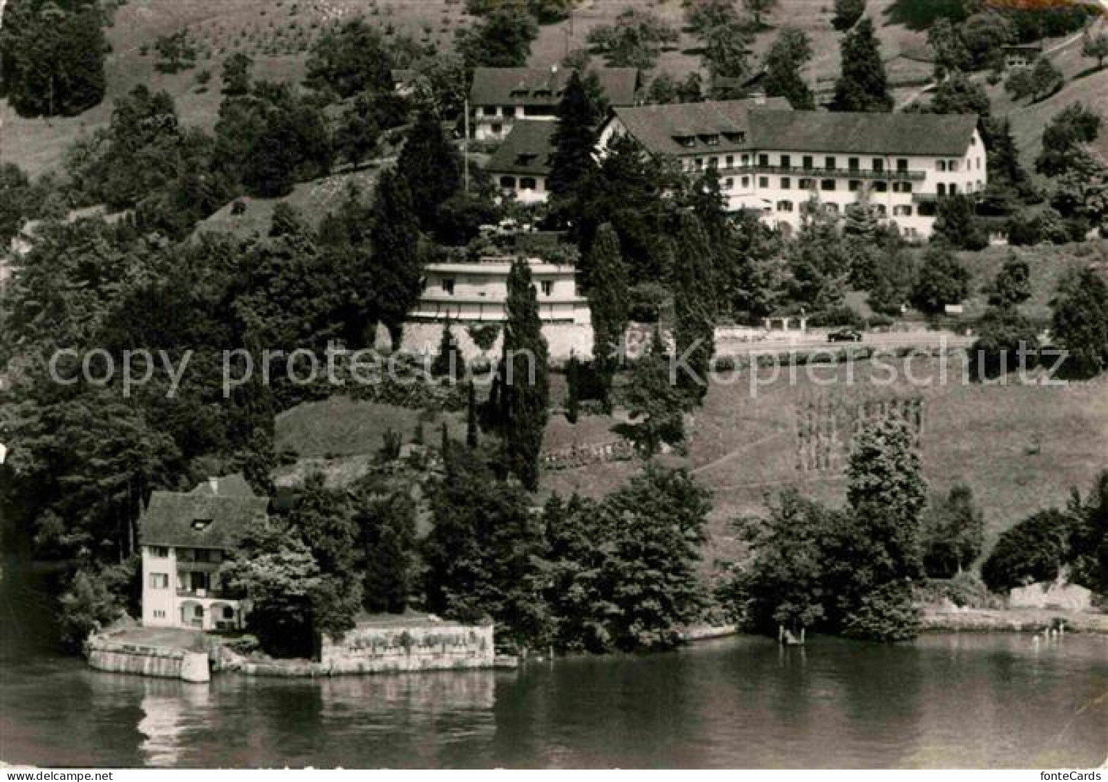
[[[570,79],[565,68],[478,68],[473,71],[470,103],[476,106],[553,106],[562,100]],[[608,103],[628,106],[635,102],[638,71],[634,68],[595,68]]]

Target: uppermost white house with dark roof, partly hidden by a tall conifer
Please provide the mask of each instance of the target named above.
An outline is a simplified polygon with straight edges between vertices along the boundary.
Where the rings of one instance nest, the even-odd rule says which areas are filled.
[[[478,68],[470,88],[473,137],[504,138],[519,120],[557,120],[557,104],[572,73],[558,68]],[[638,71],[634,68],[594,68],[601,91],[612,106],[634,105]]]

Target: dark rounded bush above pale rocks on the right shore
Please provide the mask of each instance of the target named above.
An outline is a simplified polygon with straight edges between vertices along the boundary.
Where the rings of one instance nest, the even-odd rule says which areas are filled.
[[[1054,580],[1065,563],[1069,519],[1060,511],[1040,511],[1001,535],[981,568],[989,589]]]

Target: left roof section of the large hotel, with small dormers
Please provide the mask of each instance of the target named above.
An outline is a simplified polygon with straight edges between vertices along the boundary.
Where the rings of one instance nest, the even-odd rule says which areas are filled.
[[[627,131],[650,152],[687,155],[694,150],[728,152],[752,148],[750,116],[770,110],[788,113],[789,102],[783,97],[768,97],[667,103],[617,107],[615,114]],[[691,138],[694,146],[683,146],[678,143],[678,137]],[[709,145],[709,137],[715,137],[717,143]]]

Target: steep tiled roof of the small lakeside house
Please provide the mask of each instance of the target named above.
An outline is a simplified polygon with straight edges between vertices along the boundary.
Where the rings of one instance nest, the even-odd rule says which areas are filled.
[[[138,522],[144,546],[233,548],[247,525],[264,516],[268,497],[259,497],[242,475],[205,481],[188,493],[154,492]],[[203,529],[193,523],[203,519]]]

